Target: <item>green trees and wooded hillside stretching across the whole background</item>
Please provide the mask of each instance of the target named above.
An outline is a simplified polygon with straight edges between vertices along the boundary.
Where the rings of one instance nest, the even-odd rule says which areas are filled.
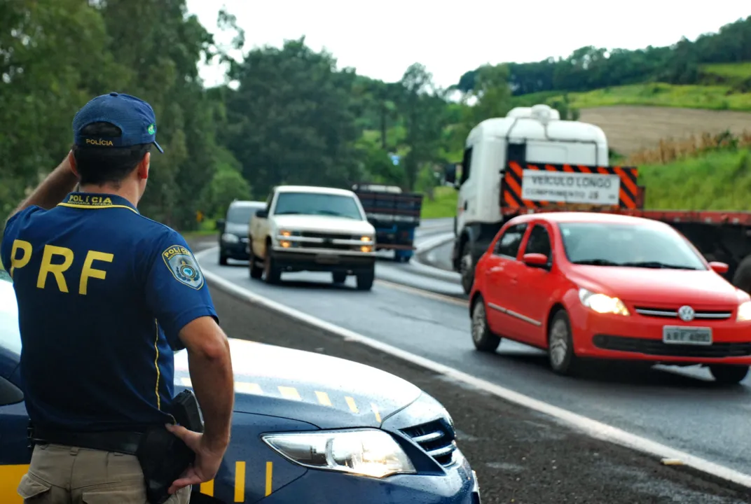
[[[19,1],[0,13],[0,217],[65,156],[76,110],[111,91],[146,99],[158,118],[165,152],[152,156],[140,211],[197,233],[232,199],[288,183],[397,184],[425,194],[424,217],[453,215],[445,166],[472,126],[519,105],[550,104],[562,118],[637,104],[751,110],[751,17],[672,46],[484,65],[441,89],[419,62],[385,83],[339,68],[304,36],[232,59],[245,40],[232,14],[219,15],[223,46],[185,0]],[[225,85],[205,88],[205,61],[228,63]],[[649,146],[632,144],[623,154]]]

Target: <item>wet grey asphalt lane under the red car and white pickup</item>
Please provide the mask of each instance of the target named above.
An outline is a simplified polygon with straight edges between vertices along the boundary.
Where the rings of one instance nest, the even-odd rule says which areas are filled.
[[[354,290],[354,278],[336,287],[327,274],[285,273],[282,285],[269,286],[251,281],[246,263],[219,266],[216,250],[198,257],[204,269],[306,314],[751,474],[751,379],[722,388],[704,370],[655,368],[634,374],[612,367],[593,368],[579,378],[558,377],[547,367],[544,353],[521,344],[503,341],[493,355],[476,352],[464,300],[393,283],[438,292],[451,286],[411,265],[379,261],[377,275],[388,282],[376,281],[371,292],[360,293]]]

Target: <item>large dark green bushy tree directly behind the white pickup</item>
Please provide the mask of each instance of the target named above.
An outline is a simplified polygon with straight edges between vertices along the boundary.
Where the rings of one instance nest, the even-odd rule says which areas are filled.
[[[304,37],[250,51],[227,95],[227,147],[259,191],[275,184],[348,186],[357,175],[354,72],[337,71]]]

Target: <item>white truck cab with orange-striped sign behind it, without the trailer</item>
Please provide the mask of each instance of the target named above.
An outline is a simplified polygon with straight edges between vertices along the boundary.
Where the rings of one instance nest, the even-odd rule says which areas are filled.
[[[618,175],[597,169],[608,166],[605,133],[595,124],[562,121],[547,105],[517,107],[482,121],[467,136],[461,166],[459,180],[455,173],[446,180],[459,189],[452,260],[466,293],[477,260],[512,217],[508,210],[550,202],[618,204]]]

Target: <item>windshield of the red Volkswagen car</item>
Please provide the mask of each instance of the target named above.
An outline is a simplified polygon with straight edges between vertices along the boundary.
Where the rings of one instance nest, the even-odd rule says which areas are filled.
[[[707,269],[674,229],[646,224],[559,223],[575,264],[653,269]]]

